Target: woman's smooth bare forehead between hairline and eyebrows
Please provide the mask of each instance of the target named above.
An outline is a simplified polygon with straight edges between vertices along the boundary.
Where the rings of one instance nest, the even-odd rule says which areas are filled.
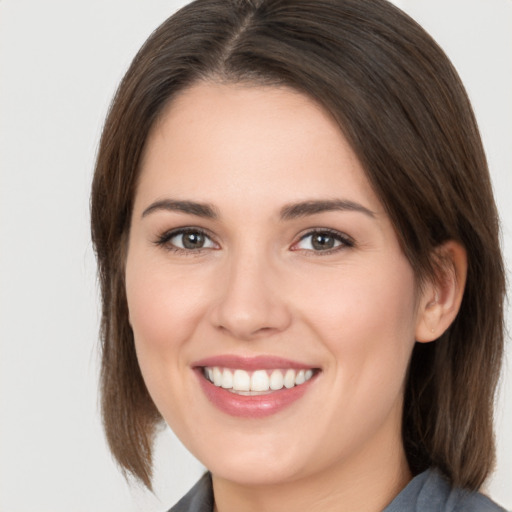
[[[208,201],[221,191],[283,201],[349,193],[380,209],[332,116],[287,87],[201,82],[183,91],[147,140],[138,196],[158,190]]]

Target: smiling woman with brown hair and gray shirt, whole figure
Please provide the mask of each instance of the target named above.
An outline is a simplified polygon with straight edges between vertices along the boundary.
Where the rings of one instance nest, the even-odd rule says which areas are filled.
[[[134,59],[92,191],[102,406],[172,510],[501,510],[498,220],[432,39],[382,0],[199,0]]]

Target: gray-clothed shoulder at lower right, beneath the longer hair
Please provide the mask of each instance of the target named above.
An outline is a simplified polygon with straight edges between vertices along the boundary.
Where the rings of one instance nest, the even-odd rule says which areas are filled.
[[[435,469],[416,476],[384,512],[506,512],[479,492],[454,488]]]

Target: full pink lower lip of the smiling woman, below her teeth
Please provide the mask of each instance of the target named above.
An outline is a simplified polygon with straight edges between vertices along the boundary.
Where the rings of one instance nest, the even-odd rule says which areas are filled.
[[[213,405],[231,416],[243,418],[264,418],[282,411],[299,400],[315,380],[313,376],[304,384],[290,389],[283,388],[266,395],[247,396],[237,395],[215,386],[203,376],[200,368],[197,369],[196,374],[205,395]]]

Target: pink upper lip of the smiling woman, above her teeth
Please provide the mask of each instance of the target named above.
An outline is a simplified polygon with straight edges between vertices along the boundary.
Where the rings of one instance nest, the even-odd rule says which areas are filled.
[[[192,363],[192,367],[222,367],[222,368],[236,368],[246,371],[255,370],[273,370],[293,368],[297,370],[316,368],[314,365],[305,364],[291,359],[286,359],[277,356],[238,356],[234,354],[225,354],[212,357],[206,357]]]

